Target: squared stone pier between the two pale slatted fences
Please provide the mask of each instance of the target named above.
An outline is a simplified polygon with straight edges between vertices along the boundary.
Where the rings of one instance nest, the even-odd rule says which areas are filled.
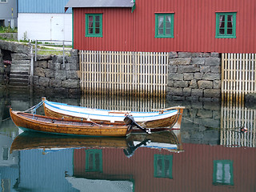
[[[173,100],[219,101],[221,98],[219,55],[170,52],[167,97]]]

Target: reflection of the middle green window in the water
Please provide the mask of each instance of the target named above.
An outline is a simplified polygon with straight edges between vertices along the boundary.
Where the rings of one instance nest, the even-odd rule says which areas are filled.
[[[154,177],[173,178],[173,155],[154,154]]]

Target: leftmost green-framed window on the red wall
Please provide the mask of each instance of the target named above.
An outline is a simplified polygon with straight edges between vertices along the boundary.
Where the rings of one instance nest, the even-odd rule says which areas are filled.
[[[102,14],[86,14],[86,37],[102,37]]]

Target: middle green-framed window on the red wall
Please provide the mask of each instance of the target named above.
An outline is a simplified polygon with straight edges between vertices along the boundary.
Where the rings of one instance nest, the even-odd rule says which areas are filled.
[[[155,14],[155,38],[174,38],[174,14]]]

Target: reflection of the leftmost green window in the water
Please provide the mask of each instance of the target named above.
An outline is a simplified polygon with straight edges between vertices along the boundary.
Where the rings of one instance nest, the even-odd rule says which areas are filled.
[[[86,171],[102,172],[102,150],[86,150]]]

